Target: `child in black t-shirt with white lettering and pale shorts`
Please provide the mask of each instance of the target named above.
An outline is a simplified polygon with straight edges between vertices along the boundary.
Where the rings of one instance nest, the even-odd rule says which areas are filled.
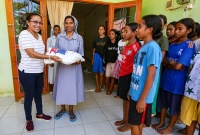
[[[106,66],[106,95],[110,95],[110,78],[113,81],[114,78],[112,77],[115,61],[117,59],[117,49],[118,49],[118,41],[116,41],[117,31],[115,29],[111,29],[109,31],[109,38],[110,41],[106,43],[105,46],[105,63]],[[112,86],[113,87],[113,86]]]

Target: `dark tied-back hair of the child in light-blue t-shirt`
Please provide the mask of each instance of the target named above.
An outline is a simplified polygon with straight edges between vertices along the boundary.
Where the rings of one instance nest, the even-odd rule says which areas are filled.
[[[163,35],[163,33],[161,32],[162,21],[159,16],[146,15],[146,16],[143,16],[142,19],[144,20],[144,23],[147,28],[153,28],[153,31],[152,31],[153,39],[159,39]]]

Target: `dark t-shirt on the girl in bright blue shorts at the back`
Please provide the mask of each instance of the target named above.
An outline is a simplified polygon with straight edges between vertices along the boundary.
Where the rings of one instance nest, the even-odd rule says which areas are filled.
[[[98,53],[102,58],[104,55],[105,45],[109,41],[108,37],[100,38],[96,37],[93,40],[92,47],[95,48],[95,53]]]

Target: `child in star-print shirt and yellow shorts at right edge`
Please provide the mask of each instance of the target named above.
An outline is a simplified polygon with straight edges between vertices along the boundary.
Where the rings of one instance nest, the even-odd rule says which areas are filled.
[[[193,69],[186,81],[180,114],[180,119],[186,124],[186,135],[194,134],[197,123],[200,127],[200,51],[193,55],[190,64]]]

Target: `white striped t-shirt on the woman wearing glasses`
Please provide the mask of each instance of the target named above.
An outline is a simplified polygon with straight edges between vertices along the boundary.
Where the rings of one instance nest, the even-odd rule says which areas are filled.
[[[42,73],[44,70],[44,60],[31,58],[26,53],[25,49],[33,48],[35,52],[44,54],[45,46],[42,37],[38,34],[37,40],[30,32],[24,30],[19,35],[19,50],[21,53],[21,61],[18,69],[25,73]]]

